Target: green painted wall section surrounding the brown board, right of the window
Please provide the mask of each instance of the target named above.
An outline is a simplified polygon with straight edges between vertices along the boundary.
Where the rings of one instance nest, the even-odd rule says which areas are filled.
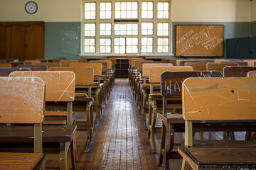
[[[223,25],[224,26],[224,57],[225,57],[225,39],[227,38],[242,38],[250,36],[250,23],[241,22],[241,23],[206,23],[206,22],[173,22],[173,40],[172,45],[174,49],[174,54],[176,53],[175,49],[175,40],[176,40],[176,25]],[[256,24],[255,24],[256,25]],[[255,27],[256,28],[256,27]]]

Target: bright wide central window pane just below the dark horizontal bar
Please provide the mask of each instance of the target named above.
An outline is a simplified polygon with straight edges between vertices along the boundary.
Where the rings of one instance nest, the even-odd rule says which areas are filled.
[[[115,23],[114,35],[138,35],[137,23]]]

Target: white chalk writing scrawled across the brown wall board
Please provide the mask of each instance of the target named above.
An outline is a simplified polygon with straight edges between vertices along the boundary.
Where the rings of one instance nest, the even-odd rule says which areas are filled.
[[[198,45],[201,45],[205,50],[218,47],[223,39],[210,35],[210,30],[213,28],[214,26],[208,26],[198,31],[191,28],[176,41],[176,45],[179,46],[178,49],[182,53]]]

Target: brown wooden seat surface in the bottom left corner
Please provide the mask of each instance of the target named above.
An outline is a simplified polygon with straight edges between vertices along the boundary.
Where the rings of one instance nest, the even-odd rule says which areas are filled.
[[[0,169],[43,169],[46,155],[42,153],[0,152]]]

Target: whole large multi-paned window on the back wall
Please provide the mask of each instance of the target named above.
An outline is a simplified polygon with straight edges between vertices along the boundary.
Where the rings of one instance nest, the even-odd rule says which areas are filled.
[[[82,54],[170,55],[169,0],[83,0]]]

